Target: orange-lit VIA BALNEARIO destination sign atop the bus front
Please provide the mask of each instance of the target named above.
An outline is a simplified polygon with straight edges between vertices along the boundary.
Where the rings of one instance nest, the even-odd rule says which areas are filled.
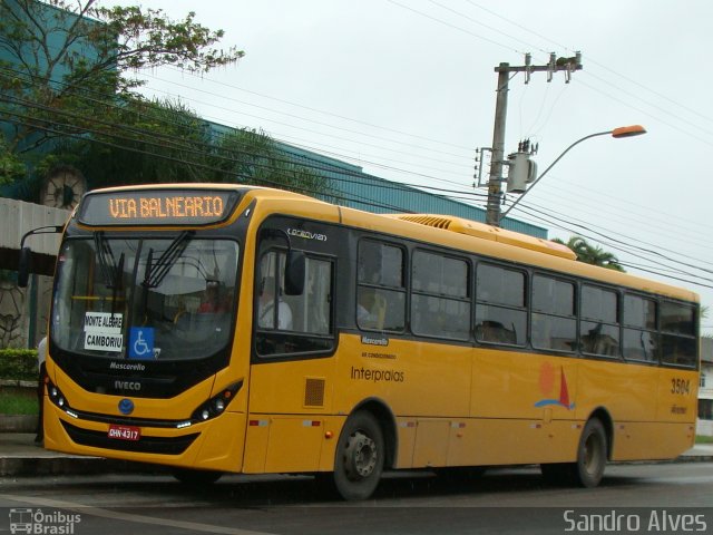
[[[223,189],[97,192],[85,196],[78,217],[91,226],[207,225],[226,220],[237,197]]]

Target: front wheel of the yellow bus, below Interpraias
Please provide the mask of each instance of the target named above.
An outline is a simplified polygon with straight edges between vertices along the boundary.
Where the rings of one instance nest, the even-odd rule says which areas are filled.
[[[346,500],[367,499],[379,485],[385,444],[371,412],[358,411],[346,419],[334,458],[334,486]]]

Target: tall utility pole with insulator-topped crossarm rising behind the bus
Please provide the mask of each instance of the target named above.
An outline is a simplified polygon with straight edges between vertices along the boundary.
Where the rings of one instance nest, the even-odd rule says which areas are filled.
[[[557,71],[565,71],[565,82],[569,84],[572,72],[582,70],[582,54],[576,52],[572,58],[557,58],[555,52],[549,55],[547,65],[530,65],[531,55],[525,55],[525,65],[512,67],[500,64],[495,68],[498,74],[497,98],[495,104],[495,126],[492,128],[492,159],[490,162],[490,177],[488,179],[488,206],[486,223],[500,226],[500,202],[502,198],[502,165],[505,162],[505,126],[508,113],[508,84],[510,72],[525,72],[525,84],[530,81],[530,74],[546,71],[547,81],[553,80]]]

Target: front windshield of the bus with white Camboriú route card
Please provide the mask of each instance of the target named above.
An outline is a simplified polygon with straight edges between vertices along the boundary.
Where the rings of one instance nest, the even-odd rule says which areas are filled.
[[[110,359],[186,360],[229,341],[238,245],[168,237],[67,240],[58,256],[52,340]]]

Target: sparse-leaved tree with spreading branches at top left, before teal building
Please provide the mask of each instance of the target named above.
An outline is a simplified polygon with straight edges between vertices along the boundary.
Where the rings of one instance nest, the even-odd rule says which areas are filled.
[[[96,0],[4,0],[0,3],[0,109],[11,118],[11,152],[33,150],[58,136],[81,134],[106,109],[144,84],[129,70],[173,65],[208,71],[244,52],[213,48],[223,30],[173,21],[162,10],[96,7]],[[110,105],[114,105],[111,103]],[[49,125],[49,126],[48,126]],[[38,130],[41,135],[38,135]]]

